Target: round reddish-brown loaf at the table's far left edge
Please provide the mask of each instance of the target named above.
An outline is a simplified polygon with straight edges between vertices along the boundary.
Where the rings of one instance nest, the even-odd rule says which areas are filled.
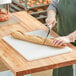
[[[10,16],[6,9],[0,8],[0,22],[9,20]]]

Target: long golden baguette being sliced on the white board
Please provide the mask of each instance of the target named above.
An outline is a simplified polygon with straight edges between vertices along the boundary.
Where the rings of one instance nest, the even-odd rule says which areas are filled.
[[[62,48],[62,47],[65,46],[65,45],[62,45],[62,46],[54,46],[54,45],[52,45],[52,42],[53,42],[54,38],[46,39],[46,41],[44,43],[45,38],[40,37],[40,36],[36,36],[36,35],[24,34],[21,31],[12,32],[11,36],[16,38],[16,39],[20,39],[20,40],[24,40],[24,41],[28,41],[28,42],[32,42],[32,43],[36,43],[36,44],[51,46],[51,47]]]

